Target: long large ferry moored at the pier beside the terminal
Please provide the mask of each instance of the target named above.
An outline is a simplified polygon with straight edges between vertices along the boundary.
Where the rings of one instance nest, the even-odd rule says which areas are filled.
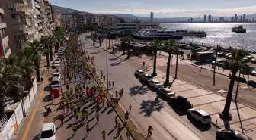
[[[133,36],[140,39],[182,39],[181,33],[168,30],[140,30]]]

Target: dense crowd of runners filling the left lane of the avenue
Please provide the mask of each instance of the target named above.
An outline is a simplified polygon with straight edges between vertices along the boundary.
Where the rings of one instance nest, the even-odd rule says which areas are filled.
[[[78,42],[78,39],[74,39]],[[96,124],[100,121],[100,110],[101,107],[104,107],[107,104],[107,108],[112,105],[112,107],[117,107],[120,98],[123,97],[123,89],[120,91],[116,91],[115,95],[110,96],[110,101],[107,100],[105,94],[107,91],[101,86],[94,85],[89,87],[88,81],[94,79],[96,69],[94,64],[94,56],[88,54],[88,51],[82,48],[81,43],[68,42],[68,46],[62,57],[62,73],[64,75],[64,84],[60,88],[62,93],[62,98],[59,106],[62,108],[62,113],[59,114],[59,120],[61,120],[62,126],[65,123],[66,118],[69,115],[75,116],[76,121],[72,123],[73,136],[77,131],[78,127],[84,126],[86,128],[86,135],[88,137],[91,131],[91,120],[96,118]],[[73,82],[72,82],[72,79]],[[105,76],[103,71],[101,70],[101,79],[105,81]],[[70,85],[75,85],[75,89],[73,89]],[[114,81],[108,82],[109,87],[114,87]],[[66,86],[64,86],[66,85]],[[73,86],[74,87],[74,86]],[[89,107],[93,107],[96,110],[95,114],[89,113],[88,107],[84,107],[85,103],[89,103]],[[125,123],[126,120],[129,119],[129,114],[132,110],[132,106],[130,104],[129,111],[125,113]],[[123,125],[118,120],[116,116],[114,128],[117,129],[116,136],[113,139],[123,140],[123,135],[121,135],[121,131],[123,129]],[[151,127],[151,126],[149,126]],[[149,128],[148,137],[152,135],[152,127]],[[101,132],[102,138],[105,139],[107,137],[106,131],[103,130]],[[130,129],[126,130],[126,138],[130,139]]]

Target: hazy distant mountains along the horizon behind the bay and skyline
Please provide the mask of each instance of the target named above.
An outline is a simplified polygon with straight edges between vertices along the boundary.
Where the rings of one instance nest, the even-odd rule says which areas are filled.
[[[75,10],[75,9],[63,8],[63,7],[56,6],[56,5],[52,5],[52,6],[53,6],[53,11],[56,12],[56,13],[60,13],[60,14],[72,13],[72,12],[78,11],[78,10]],[[88,12],[85,12],[85,11],[82,11],[82,12],[84,12],[85,14],[92,14],[92,13],[88,13]],[[138,17],[138,16],[135,16],[133,14],[107,14],[107,15],[122,17],[126,21],[132,21],[132,20],[149,21],[150,20],[150,17]],[[240,16],[241,15],[238,15],[238,19],[240,18]],[[203,15],[202,15],[202,17],[203,17]],[[193,21],[194,22],[203,21],[202,17],[194,17]],[[183,22],[183,21],[187,21],[187,19],[190,19],[190,18],[191,17],[154,18],[154,21],[159,22],[159,23],[162,23],[162,22]],[[256,13],[255,14],[248,14],[248,15],[246,15],[246,18],[248,18],[248,19],[254,18],[256,20]],[[216,20],[216,19],[219,20],[219,17],[214,17],[213,16],[213,20]],[[224,19],[225,20],[231,20],[231,17],[224,17]],[[208,17],[207,17],[207,20],[208,20]]]

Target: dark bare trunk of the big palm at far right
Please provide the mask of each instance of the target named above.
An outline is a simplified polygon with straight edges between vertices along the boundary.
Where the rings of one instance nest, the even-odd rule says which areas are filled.
[[[226,96],[226,103],[225,103],[225,107],[224,110],[222,112],[221,117],[222,118],[226,118],[226,119],[230,119],[231,114],[229,114],[229,110],[230,110],[230,104],[232,101],[232,94],[233,94],[233,88],[234,88],[234,84],[235,84],[235,74],[232,74],[232,76],[230,77],[230,82],[229,82],[229,90],[228,90],[228,94]]]

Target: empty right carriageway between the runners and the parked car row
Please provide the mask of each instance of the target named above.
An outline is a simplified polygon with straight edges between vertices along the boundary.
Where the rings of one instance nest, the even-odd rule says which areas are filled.
[[[102,48],[95,48],[88,40],[83,40],[83,42],[87,51],[94,54],[98,73],[99,70],[106,73],[106,52]],[[105,44],[103,43],[103,45]],[[141,64],[133,63],[133,59],[120,62],[121,60],[112,54],[108,54],[108,58],[109,79],[116,83],[112,92],[124,89],[125,94],[120,103],[126,110],[132,104],[131,117],[140,126],[142,132],[146,133],[149,125],[154,128],[151,139],[215,139],[216,129],[214,126],[201,126],[194,123],[193,120],[190,122],[183,112],[171,108],[146,86],[139,89],[142,83],[133,74],[136,69],[141,67]],[[113,63],[117,62],[120,63],[113,66]]]

